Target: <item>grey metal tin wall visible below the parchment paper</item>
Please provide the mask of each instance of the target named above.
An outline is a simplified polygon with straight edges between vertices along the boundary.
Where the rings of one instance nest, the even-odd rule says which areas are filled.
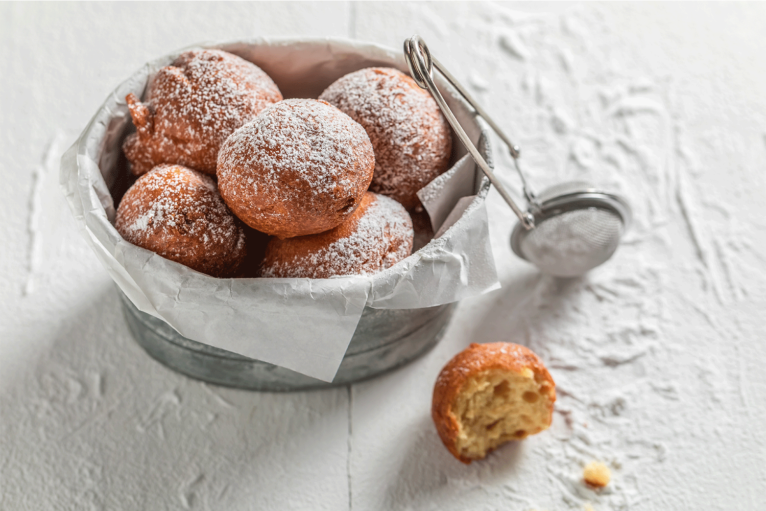
[[[130,332],[154,359],[205,382],[260,391],[345,385],[396,369],[436,346],[456,306],[449,303],[410,310],[365,307],[338,373],[327,383],[187,339],[162,319],[136,309],[121,291],[119,296]]]

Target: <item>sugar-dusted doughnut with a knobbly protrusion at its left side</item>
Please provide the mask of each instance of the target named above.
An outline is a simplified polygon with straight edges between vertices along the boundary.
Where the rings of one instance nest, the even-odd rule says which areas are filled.
[[[123,144],[135,175],[178,163],[215,175],[218,149],[282,93],[260,67],[221,50],[191,50],[162,67],[147,103],[125,98],[137,132]]]

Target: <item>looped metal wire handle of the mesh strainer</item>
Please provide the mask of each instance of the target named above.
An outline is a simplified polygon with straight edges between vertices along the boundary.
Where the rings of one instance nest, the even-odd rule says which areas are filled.
[[[516,205],[516,202],[513,201],[513,198],[508,193],[506,188],[502,185],[502,183],[499,182],[499,179],[496,178],[493,170],[482,158],[479,150],[476,149],[476,146],[473,145],[473,142],[471,142],[470,138],[463,129],[463,126],[460,126],[460,123],[457,121],[457,117],[455,117],[455,115],[452,113],[450,107],[447,106],[447,101],[444,100],[444,97],[442,97],[441,93],[436,87],[436,84],[434,83],[433,68],[436,67],[437,70],[439,70],[442,76],[444,76],[444,78],[446,78],[447,81],[449,81],[450,84],[455,87],[455,89],[463,96],[463,98],[465,98],[465,100],[470,103],[471,106],[473,106],[474,110],[476,110],[476,113],[478,113],[483,118],[483,120],[485,120],[486,123],[492,127],[493,130],[495,130],[495,133],[500,136],[502,141],[506,142],[511,152],[511,156],[513,157],[514,165],[516,165],[516,170],[519,172],[519,176],[522,179],[524,194],[527,200],[532,202],[534,196],[529,192],[529,188],[526,185],[524,175],[522,174],[521,169],[519,169],[519,163],[517,162],[520,154],[519,146],[516,146],[510,142],[508,137],[502,133],[501,129],[499,129],[499,126],[497,126],[497,124],[494,123],[494,121],[489,117],[489,115],[487,115],[483,108],[479,106],[475,100],[473,100],[473,97],[471,97],[470,94],[458,83],[455,77],[453,77],[452,74],[450,74],[450,72],[447,71],[447,69],[445,69],[439,61],[431,56],[428,47],[419,35],[415,34],[411,38],[404,40],[404,60],[407,61],[407,66],[410,69],[412,79],[415,80],[415,83],[418,86],[423,89],[427,89],[431,93],[431,96],[433,96],[434,100],[436,100],[436,103],[441,109],[442,113],[444,113],[444,116],[447,117],[447,122],[450,123],[452,129],[455,130],[457,138],[460,139],[460,142],[463,142],[463,146],[466,147],[469,154],[476,162],[476,165],[479,165],[479,168],[482,170],[482,172],[484,172],[484,175],[486,175],[486,177],[489,179],[489,182],[495,185],[495,188],[497,188],[500,196],[505,199],[512,211],[516,214],[517,217],[519,217],[519,221],[521,221],[521,224],[524,226],[524,228],[527,230],[534,228],[535,218],[532,213],[529,211],[522,211],[522,209]]]

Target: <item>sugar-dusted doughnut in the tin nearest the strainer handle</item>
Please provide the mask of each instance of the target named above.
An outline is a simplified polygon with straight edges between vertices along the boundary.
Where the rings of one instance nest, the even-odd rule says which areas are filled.
[[[375,148],[370,190],[395,198],[408,211],[418,190],[447,170],[450,126],[427,90],[391,67],[347,74],[322,92],[326,100],[364,126]]]

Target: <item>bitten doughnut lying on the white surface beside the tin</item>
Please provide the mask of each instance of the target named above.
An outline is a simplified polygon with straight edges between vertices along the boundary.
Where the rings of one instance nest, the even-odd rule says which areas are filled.
[[[441,370],[431,417],[441,441],[463,463],[551,425],[553,378],[528,348],[471,344]]]

